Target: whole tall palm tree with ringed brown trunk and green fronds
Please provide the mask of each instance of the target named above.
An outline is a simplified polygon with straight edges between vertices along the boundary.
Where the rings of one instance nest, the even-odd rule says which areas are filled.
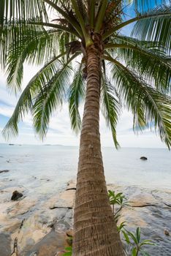
[[[116,147],[122,107],[132,111],[135,130],[151,127],[171,146],[171,7],[155,2],[155,7],[148,0],[0,2],[0,63],[9,89],[21,89],[25,61],[42,65],[23,90],[4,135],[17,135],[18,122],[31,112],[44,138],[50,115],[66,100],[72,129],[81,127],[74,256],[124,255],[107,197],[99,108]],[[134,18],[125,15],[130,4]],[[128,37],[122,29],[130,24]]]

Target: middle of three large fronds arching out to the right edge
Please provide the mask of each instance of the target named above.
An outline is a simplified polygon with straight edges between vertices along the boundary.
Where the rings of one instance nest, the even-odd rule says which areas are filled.
[[[171,65],[169,56],[164,53],[164,50],[157,48],[153,42],[145,43],[135,40],[136,44],[134,44],[134,40],[131,43],[131,39],[127,42],[126,39],[124,40],[124,43],[108,44],[104,48],[108,48],[108,53],[114,59],[117,58],[125,63],[129,69],[138,73],[151,86],[165,93],[170,93]]]

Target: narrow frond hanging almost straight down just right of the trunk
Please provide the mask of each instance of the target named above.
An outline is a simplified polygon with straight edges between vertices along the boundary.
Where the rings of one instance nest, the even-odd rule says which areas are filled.
[[[110,127],[112,131],[115,148],[118,148],[119,143],[116,138],[116,125],[118,123],[118,116],[121,112],[121,103],[118,99],[118,95],[115,93],[114,87],[104,75],[102,75],[101,91],[102,113],[106,120],[107,127]]]

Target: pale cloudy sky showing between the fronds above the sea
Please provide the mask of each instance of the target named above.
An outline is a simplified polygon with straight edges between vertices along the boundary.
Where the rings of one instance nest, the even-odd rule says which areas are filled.
[[[132,9],[130,7],[129,16],[132,16]],[[127,27],[123,30],[123,34],[129,34],[131,28]],[[23,74],[23,88],[28,81],[39,70],[39,67],[31,67],[28,64],[24,65]],[[49,131],[47,137],[42,142],[35,134],[32,127],[31,116],[26,116],[23,122],[19,124],[19,135],[17,138],[11,140],[5,140],[1,135],[1,131],[5,124],[12,116],[12,112],[18,101],[19,95],[10,94],[7,89],[7,83],[4,72],[0,70],[0,143],[18,143],[18,144],[60,144],[65,146],[79,146],[80,136],[75,135],[71,130],[69,121],[68,105],[64,104],[61,110],[53,113],[50,120]],[[83,114],[83,106],[80,108],[80,113]],[[118,122],[117,134],[118,142],[121,147],[142,147],[142,148],[164,148],[164,143],[161,143],[159,136],[155,132],[151,132],[148,129],[139,135],[135,135],[132,130],[132,114],[126,110],[123,110],[121,118]],[[100,133],[102,146],[114,146],[113,138],[110,129],[107,129],[105,120],[100,114]]]

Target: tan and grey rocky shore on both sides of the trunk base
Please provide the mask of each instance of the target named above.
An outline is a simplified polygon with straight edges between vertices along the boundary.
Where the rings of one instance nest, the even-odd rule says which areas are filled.
[[[28,196],[24,187],[9,186],[9,182],[1,187],[0,255],[62,255],[72,235],[75,181],[69,181],[61,192],[54,189],[50,197],[41,200],[36,195]],[[171,236],[165,232],[171,233],[171,189],[161,192],[115,184],[108,184],[107,188],[126,195],[129,205],[123,207],[120,222],[126,221],[131,231],[139,226],[142,239],[154,241],[156,246],[148,247],[151,256],[171,255]],[[15,190],[23,197],[12,201]]]

